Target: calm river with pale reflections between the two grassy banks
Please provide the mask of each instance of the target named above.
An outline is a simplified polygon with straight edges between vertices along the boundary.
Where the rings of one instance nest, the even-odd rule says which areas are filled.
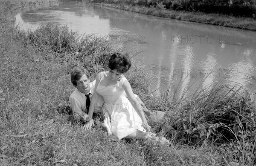
[[[32,1],[31,1],[32,2]],[[150,67],[161,92],[182,79],[181,91],[210,73],[204,86],[229,73],[229,80],[256,88],[256,32],[110,9],[78,1],[35,1],[15,16],[22,29],[42,23],[67,25],[125,47]],[[197,88],[198,84],[193,84]]]

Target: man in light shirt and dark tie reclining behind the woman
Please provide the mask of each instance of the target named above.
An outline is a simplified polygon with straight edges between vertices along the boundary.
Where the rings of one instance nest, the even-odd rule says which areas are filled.
[[[71,82],[76,88],[76,90],[69,97],[69,102],[73,111],[73,115],[77,120],[81,119],[82,121],[87,121],[89,120],[89,99],[91,99],[91,97],[93,96],[96,81],[94,80],[93,82],[90,82],[90,74],[83,67],[75,67],[74,69],[72,69],[70,74]],[[134,95],[136,96],[139,103],[143,106],[145,117],[150,118],[152,121],[155,122],[163,118],[165,114],[164,112],[149,111],[145,107],[144,103],[140,100],[140,97],[138,97],[136,94]],[[99,100],[94,112],[100,113],[103,103],[103,97],[99,96]]]

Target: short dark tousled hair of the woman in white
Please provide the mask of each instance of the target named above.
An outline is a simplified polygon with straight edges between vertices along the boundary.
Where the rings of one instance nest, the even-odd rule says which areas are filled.
[[[126,73],[131,67],[129,54],[115,52],[108,61],[108,67],[111,70],[116,69],[119,73]]]

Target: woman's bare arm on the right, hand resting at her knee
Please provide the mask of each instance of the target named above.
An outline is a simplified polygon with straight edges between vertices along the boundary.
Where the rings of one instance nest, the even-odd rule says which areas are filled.
[[[135,98],[134,93],[132,92],[131,85],[128,82],[128,80],[125,80],[125,82],[122,85],[122,88],[125,90],[125,93],[127,94],[127,97],[129,101],[133,104],[136,112],[139,114],[141,120],[142,120],[142,125],[145,129],[149,129],[150,126],[148,126],[145,114],[143,112],[143,107],[139,103],[139,101]]]

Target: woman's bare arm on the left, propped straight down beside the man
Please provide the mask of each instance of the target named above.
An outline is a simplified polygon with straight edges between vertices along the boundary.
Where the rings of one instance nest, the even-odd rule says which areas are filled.
[[[96,89],[98,87],[100,77],[101,77],[101,73],[98,73],[96,76],[96,83],[95,83],[95,88],[93,91],[93,97],[91,99],[90,107],[89,107],[89,111],[88,111],[89,121],[86,125],[84,125],[84,129],[86,129],[86,130],[91,129],[91,127],[93,126],[93,112],[96,109],[96,106],[97,106],[97,103],[99,100],[99,94],[96,92]]]

